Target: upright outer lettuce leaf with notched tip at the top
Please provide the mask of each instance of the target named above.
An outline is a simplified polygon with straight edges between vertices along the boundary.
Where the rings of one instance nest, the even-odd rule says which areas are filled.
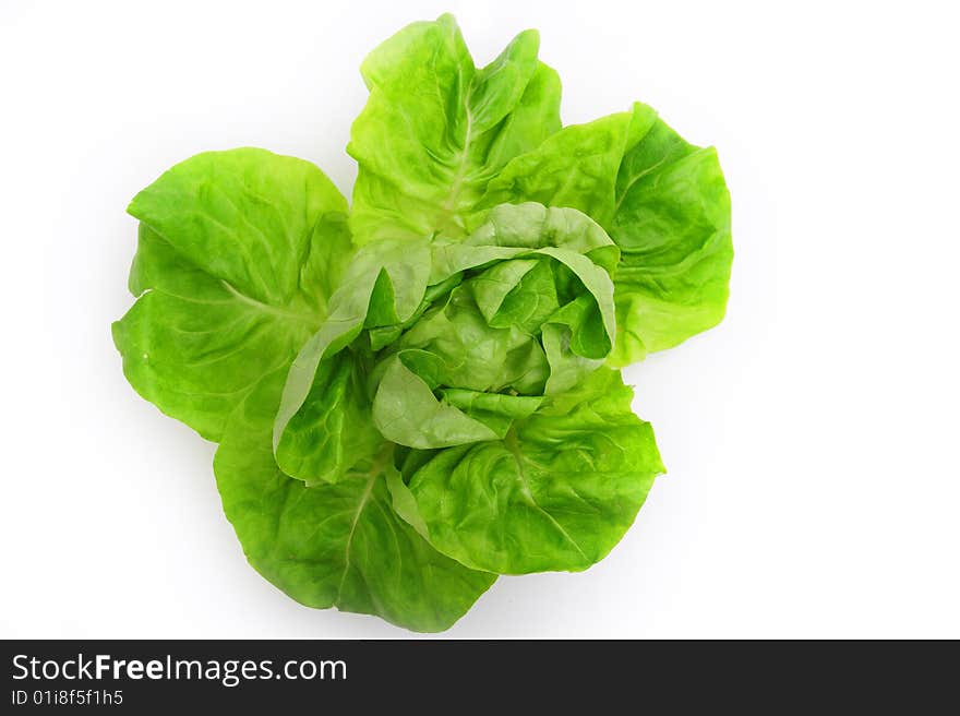
[[[456,22],[418,22],[374,49],[370,98],[347,151],[360,165],[350,226],[358,243],[464,237],[488,181],[560,129],[560,80],[520,33],[478,70]]]

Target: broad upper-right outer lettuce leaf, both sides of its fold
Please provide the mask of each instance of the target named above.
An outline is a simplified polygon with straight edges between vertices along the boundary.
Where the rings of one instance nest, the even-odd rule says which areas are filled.
[[[616,347],[624,366],[723,318],[733,248],[730,195],[713,148],[682,140],[637,103],[566,127],[489,182],[483,208],[536,201],[577,208],[621,249]]]

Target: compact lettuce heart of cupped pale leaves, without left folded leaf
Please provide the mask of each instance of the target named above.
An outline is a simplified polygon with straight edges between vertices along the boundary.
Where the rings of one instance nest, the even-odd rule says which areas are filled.
[[[616,249],[602,229],[533,203],[488,218],[464,241],[432,244],[430,281],[457,275],[456,287],[381,359],[373,419],[393,442],[503,438],[539,396],[567,390],[612,349]]]

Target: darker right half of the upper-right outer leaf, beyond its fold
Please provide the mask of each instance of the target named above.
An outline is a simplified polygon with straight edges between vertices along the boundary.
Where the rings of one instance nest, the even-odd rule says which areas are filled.
[[[713,147],[683,141],[657,120],[624,156],[610,235],[624,366],[723,320],[733,242],[730,192]]]

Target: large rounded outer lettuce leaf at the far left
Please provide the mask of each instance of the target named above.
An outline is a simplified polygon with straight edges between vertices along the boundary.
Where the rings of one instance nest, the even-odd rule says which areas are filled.
[[[133,387],[218,440],[261,379],[326,317],[349,259],[347,204],[315,166],[264,150],[178,164],[128,210],[136,303],[113,324]]]

